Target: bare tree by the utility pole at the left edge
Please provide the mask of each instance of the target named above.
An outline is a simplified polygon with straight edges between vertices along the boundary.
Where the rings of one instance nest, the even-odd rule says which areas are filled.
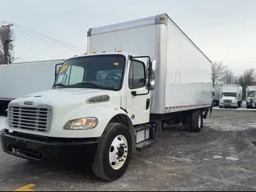
[[[11,63],[14,59],[14,33],[10,25],[0,28],[0,65]]]

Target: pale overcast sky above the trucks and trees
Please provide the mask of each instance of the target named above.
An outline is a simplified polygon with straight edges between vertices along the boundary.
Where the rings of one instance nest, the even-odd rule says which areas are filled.
[[[82,47],[85,52],[90,27],[166,13],[212,61],[223,61],[235,74],[256,68],[256,0],[0,0],[0,7],[0,20]],[[13,29],[15,56],[21,57],[17,62],[79,54]]]

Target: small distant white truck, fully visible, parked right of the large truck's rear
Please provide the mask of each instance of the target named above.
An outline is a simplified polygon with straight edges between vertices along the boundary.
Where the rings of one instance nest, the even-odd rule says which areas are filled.
[[[235,107],[242,106],[242,86],[236,84],[222,85],[221,98],[218,106],[222,107]]]

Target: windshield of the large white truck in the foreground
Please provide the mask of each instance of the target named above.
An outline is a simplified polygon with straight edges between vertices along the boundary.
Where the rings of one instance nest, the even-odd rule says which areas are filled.
[[[70,58],[63,63],[54,88],[121,90],[125,65],[122,54]]]

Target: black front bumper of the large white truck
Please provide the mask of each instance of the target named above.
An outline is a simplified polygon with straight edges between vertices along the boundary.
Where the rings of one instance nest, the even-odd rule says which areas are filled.
[[[20,158],[41,161],[45,155],[94,155],[98,138],[47,138],[1,130],[2,150]]]

